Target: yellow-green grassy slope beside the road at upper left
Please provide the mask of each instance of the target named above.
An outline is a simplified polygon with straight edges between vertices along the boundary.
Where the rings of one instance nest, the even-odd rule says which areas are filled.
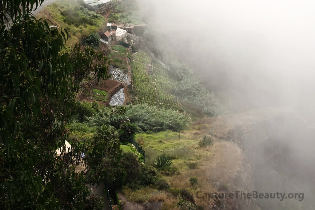
[[[104,17],[70,0],[57,0],[40,11],[36,17],[49,19],[52,25],[66,28],[69,33],[67,48],[73,48],[83,37],[105,26]]]

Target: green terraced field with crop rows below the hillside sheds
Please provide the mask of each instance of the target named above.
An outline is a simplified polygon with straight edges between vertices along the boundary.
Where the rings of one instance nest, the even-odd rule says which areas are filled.
[[[153,75],[149,76],[147,68],[151,64],[151,60],[146,52],[134,54],[131,67],[134,86],[138,94],[136,103],[177,109],[176,106],[180,105],[179,102],[169,94],[169,91],[176,85],[175,81],[169,78],[168,70],[157,63],[153,63]]]

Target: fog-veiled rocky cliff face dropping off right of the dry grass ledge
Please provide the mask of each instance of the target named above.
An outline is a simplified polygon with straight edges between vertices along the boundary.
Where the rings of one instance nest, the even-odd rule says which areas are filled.
[[[277,195],[275,199],[226,199],[226,209],[313,209],[315,130],[294,111],[261,109],[212,119],[209,124],[213,136],[231,141],[243,151],[243,168],[233,180],[234,189],[257,191],[264,197],[266,193],[269,197],[286,193],[282,201]],[[289,193],[296,196],[285,199]]]

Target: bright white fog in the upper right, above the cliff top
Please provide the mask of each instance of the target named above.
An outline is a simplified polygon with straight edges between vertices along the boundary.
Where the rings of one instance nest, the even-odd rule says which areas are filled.
[[[209,81],[210,89],[224,93],[232,110],[284,105],[310,116],[312,112],[305,110],[313,106],[314,3],[172,0],[147,4],[148,22],[163,28],[180,58]]]

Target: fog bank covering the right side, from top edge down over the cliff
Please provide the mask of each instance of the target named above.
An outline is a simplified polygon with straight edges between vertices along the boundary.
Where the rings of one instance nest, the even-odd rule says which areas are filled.
[[[243,149],[247,148],[256,190],[304,191],[308,204],[295,203],[290,209],[312,209],[315,132],[308,128],[315,122],[315,3],[150,0],[143,4],[147,21],[160,29],[180,60],[232,112],[281,106],[294,110],[254,123],[244,135],[235,131],[236,138],[243,139]],[[278,184],[271,182],[275,177]],[[281,202],[267,202],[260,203],[261,209],[289,209]]]

